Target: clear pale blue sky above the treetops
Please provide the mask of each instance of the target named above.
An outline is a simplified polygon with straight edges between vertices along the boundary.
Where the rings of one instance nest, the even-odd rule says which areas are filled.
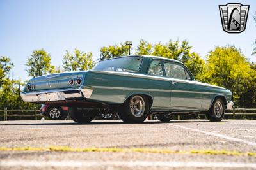
[[[249,4],[246,30],[228,34],[221,27],[218,5]],[[14,78],[28,79],[26,60],[33,50],[51,53],[61,66],[65,50],[79,48],[99,58],[100,47],[140,39],[165,43],[187,39],[205,57],[215,46],[235,45],[250,61],[256,39],[256,1],[4,1],[0,0],[0,55],[15,64]]]

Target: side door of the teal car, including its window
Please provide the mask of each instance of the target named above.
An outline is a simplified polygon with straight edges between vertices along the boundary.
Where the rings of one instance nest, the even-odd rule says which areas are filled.
[[[182,64],[163,61],[166,76],[170,78],[171,108],[201,108],[202,94]]]

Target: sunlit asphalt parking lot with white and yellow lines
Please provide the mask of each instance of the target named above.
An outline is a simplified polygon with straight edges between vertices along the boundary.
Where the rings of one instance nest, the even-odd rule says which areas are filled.
[[[256,169],[256,120],[0,122],[0,169]]]

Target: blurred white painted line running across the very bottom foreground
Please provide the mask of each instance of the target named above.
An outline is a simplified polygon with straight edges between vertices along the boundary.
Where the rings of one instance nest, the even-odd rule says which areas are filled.
[[[252,168],[255,163],[245,162],[173,162],[173,161],[0,161],[0,167],[222,167]]]

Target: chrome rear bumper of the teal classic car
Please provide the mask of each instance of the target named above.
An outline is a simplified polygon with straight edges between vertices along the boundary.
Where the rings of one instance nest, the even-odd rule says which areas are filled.
[[[20,96],[25,102],[65,101],[72,98],[90,98],[92,89],[56,89],[37,92],[21,92]]]

